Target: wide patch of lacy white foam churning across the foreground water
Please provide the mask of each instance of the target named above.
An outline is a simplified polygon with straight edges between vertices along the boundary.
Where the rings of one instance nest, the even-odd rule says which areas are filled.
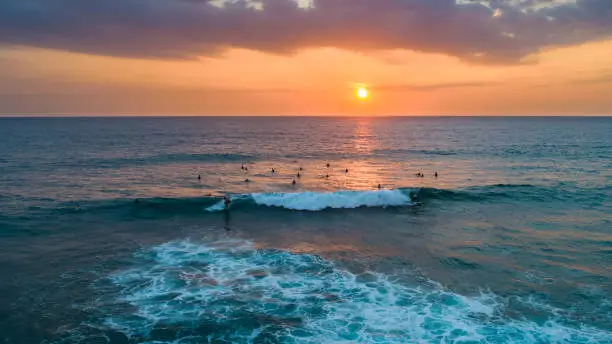
[[[240,241],[171,242],[143,252],[141,258],[147,257],[148,263],[112,276],[123,291],[117,302],[134,310],[111,313],[106,322],[144,341],[155,340],[155,327],[200,323],[212,324],[213,333],[200,334],[208,339],[244,343],[257,342],[257,336],[307,344],[609,338],[605,331],[553,318],[543,324],[507,318],[492,293],[467,297],[436,286],[412,288],[383,274],[357,276],[317,256],[255,250]]]

